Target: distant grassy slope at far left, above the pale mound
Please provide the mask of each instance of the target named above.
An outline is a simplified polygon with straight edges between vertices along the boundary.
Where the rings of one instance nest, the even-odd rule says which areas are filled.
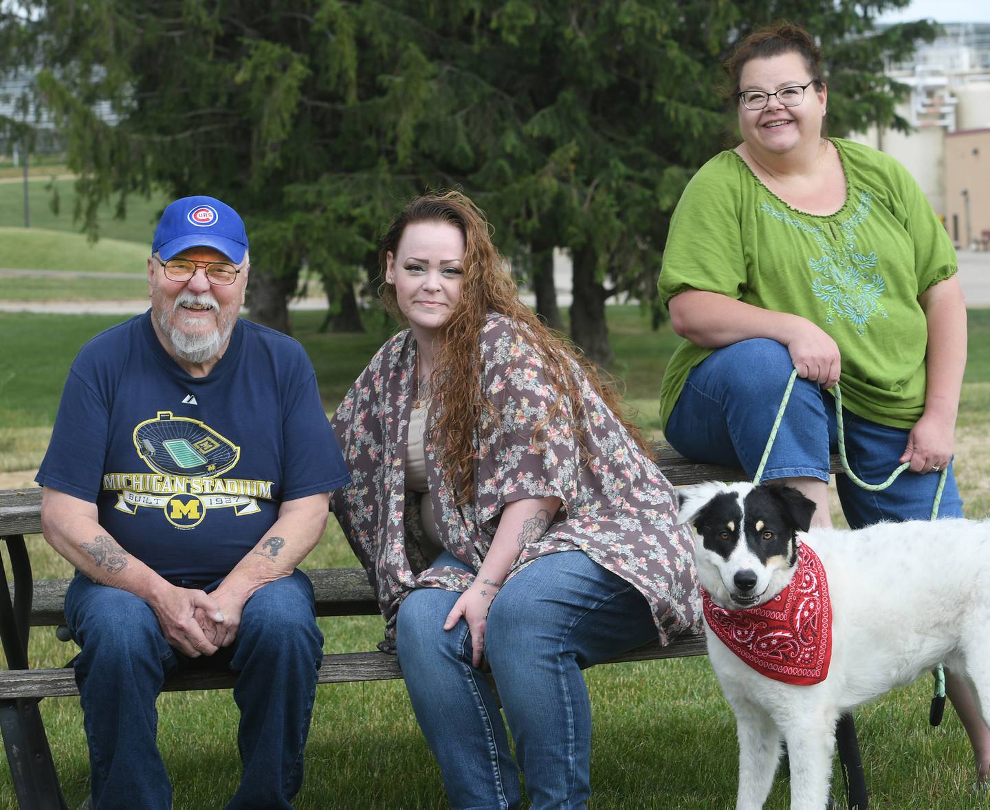
[[[61,168],[57,166],[44,172],[48,177],[61,173]],[[16,177],[11,179],[14,181],[0,182],[0,227],[23,228],[24,185],[16,182]],[[52,201],[56,198],[57,213],[52,210]],[[28,183],[31,230],[42,228],[79,233],[82,223],[73,220],[75,201],[74,180],[32,180]],[[167,202],[161,194],[153,194],[150,199],[133,194],[127,200],[125,219],[117,219],[116,200],[105,203],[100,207],[98,215],[100,237],[149,245],[154,225]]]

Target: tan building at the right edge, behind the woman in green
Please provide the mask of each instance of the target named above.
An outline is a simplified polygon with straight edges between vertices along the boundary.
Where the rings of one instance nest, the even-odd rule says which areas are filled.
[[[945,134],[945,227],[960,248],[990,250],[990,128]]]

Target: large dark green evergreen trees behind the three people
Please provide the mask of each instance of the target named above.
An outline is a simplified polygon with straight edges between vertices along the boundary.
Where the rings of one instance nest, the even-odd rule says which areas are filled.
[[[0,18],[0,36],[19,32],[0,58],[30,45],[49,68],[91,233],[99,203],[123,214],[152,186],[245,214],[253,318],[286,330],[308,267],[347,322],[403,199],[460,186],[517,266],[540,278],[553,246],[570,252],[571,334],[607,364],[606,302],[650,298],[680,192],[727,145],[735,44],[801,23],[828,59],[832,133],[903,127],[884,59],[932,28],[870,20],[907,2],[39,0]]]

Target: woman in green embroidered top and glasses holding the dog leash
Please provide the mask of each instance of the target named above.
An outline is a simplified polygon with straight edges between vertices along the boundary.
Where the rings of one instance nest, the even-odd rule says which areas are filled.
[[[853,471],[882,481],[910,461],[882,492],[838,477],[849,525],[928,518],[946,465],[940,517],[961,517],[951,458],[966,312],[955,253],[900,163],[822,137],[820,60],[804,29],[783,24],[750,35],[728,62],[743,143],[688,184],[660,273],[687,339],[663,378],[664,433],[684,456],[752,475],[797,368],[763,477],[802,490],[828,526],[828,389],[841,379]],[[990,731],[961,673],[946,686],[985,781]]]

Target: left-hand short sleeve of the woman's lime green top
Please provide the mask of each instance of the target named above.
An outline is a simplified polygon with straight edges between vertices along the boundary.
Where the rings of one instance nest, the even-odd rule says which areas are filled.
[[[670,221],[657,282],[667,302],[688,289],[740,298],[746,285],[740,159],[723,152],[684,189]]]

